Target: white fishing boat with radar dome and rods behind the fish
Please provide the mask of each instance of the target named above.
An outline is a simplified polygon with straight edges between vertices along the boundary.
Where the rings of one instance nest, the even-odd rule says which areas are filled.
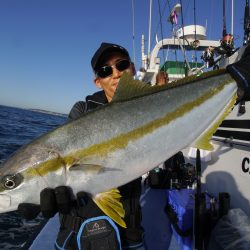
[[[177,23],[178,14],[181,14],[181,8],[181,5],[177,4],[169,15],[168,20],[173,27]],[[154,85],[159,71],[166,71],[169,80],[175,81],[188,75],[202,74],[203,71],[225,68],[228,64],[237,62],[241,58],[244,46],[249,44],[249,35],[248,1],[245,4],[243,46],[240,48],[234,47],[233,35],[226,32],[225,1],[223,1],[221,40],[207,40],[206,28],[195,23],[178,29],[173,28],[172,37],[157,41],[151,53],[145,55],[144,37],[142,37],[142,78],[145,82],[151,82]],[[166,57],[166,60],[161,62],[159,54],[162,50],[179,50],[183,54],[183,61],[170,61]],[[188,62],[188,51],[201,52],[203,62]],[[250,218],[250,193],[248,192],[250,181],[250,102],[240,102],[234,106],[212,136],[211,144],[213,145],[212,151],[192,147],[182,150],[186,162],[196,165],[197,168],[196,180],[199,182],[196,183],[197,197],[203,192],[210,197],[211,202],[211,200],[216,199],[218,201],[220,194],[227,194],[228,209],[239,208]],[[197,156],[199,164],[197,164]],[[195,201],[197,202],[196,199]],[[199,205],[198,207],[197,204],[194,205],[194,213],[198,213]],[[205,247],[204,240],[199,239],[200,242],[198,242],[198,236],[195,235],[198,231],[196,219],[197,216],[194,216],[195,242],[189,246],[182,245],[183,249],[204,249]]]

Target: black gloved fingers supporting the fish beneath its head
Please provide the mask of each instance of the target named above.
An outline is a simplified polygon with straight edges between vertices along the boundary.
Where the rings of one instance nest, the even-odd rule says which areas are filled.
[[[57,212],[69,213],[73,206],[72,190],[67,186],[60,186],[55,189],[43,189],[40,193],[40,205],[21,203],[18,206],[18,212],[25,219],[34,219],[40,212],[45,218],[51,218]]]

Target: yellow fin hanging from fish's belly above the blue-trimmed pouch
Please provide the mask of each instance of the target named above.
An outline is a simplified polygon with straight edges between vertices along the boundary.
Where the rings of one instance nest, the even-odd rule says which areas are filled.
[[[95,195],[95,197],[93,197],[93,201],[113,221],[115,221],[121,227],[126,228],[126,223],[122,219],[125,216],[125,210],[120,198],[121,195],[119,190],[111,189],[107,192]]]

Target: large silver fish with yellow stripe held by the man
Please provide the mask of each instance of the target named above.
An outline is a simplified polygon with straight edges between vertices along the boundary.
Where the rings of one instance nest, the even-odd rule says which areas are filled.
[[[37,138],[0,166],[0,212],[39,204],[42,189],[67,185],[88,192],[125,227],[115,188],[187,146],[209,149],[236,90],[224,70],[161,87],[124,74],[112,103]]]

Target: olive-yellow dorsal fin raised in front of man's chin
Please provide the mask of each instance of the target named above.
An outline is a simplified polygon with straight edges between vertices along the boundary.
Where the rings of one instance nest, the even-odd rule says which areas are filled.
[[[124,73],[116,88],[112,102],[120,102],[159,91],[159,86],[151,86]]]

